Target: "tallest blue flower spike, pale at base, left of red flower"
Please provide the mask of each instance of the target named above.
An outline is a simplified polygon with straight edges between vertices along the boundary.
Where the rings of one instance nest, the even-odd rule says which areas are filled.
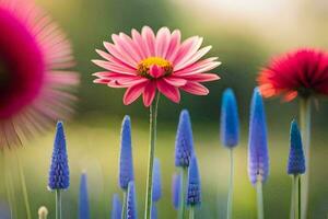
[[[267,124],[261,94],[256,88],[253,93],[248,139],[248,174],[250,182],[265,182],[269,174]]]

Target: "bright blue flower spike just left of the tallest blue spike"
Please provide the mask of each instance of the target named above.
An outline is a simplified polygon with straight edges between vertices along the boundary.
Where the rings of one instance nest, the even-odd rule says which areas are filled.
[[[239,120],[237,101],[232,89],[226,89],[221,106],[221,141],[227,148],[238,145]]]

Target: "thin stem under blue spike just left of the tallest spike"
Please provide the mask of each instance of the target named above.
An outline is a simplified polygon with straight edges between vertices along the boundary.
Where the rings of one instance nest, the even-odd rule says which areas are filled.
[[[232,219],[233,194],[234,194],[234,155],[233,155],[233,148],[231,148],[229,150],[229,154],[230,154],[230,175],[229,175],[229,194],[227,194],[226,218]]]

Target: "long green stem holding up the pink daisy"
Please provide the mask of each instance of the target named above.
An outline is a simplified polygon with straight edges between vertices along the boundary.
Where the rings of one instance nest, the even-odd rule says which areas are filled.
[[[152,211],[152,187],[153,187],[153,165],[155,157],[156,126],[157,126],[157,105],[160,93],[156,93],[155,100],[150,106],[150,146],[149,146],[149,162],[148,162],[148,178],[145,191],[145,219],[151,219]]]

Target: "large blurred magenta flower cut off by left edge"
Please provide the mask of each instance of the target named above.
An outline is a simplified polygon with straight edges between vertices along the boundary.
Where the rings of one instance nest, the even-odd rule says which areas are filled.
[[[72,113],[79,83],[71,46],[33,1],[0,0],[0,148]]]

